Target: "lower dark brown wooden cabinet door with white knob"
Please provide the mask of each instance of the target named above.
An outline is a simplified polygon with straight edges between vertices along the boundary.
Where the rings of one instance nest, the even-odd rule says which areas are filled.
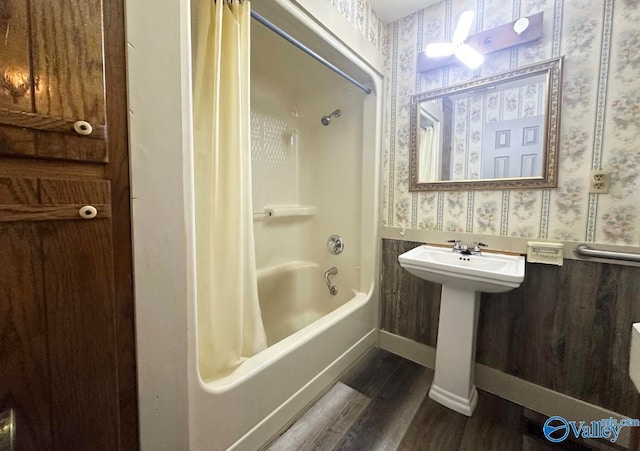
[[[17,449],[119,449],[109,182],[0,187],[0,411]]]

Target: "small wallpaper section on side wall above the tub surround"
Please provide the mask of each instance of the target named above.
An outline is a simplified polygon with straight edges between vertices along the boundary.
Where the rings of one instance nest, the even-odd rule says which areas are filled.
[[[327,0],[383,55],[388,55],[388,27],[367,0]]]

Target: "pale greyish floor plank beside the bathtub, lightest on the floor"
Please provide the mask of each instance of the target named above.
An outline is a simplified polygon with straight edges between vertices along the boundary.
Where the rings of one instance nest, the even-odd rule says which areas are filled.
[[[367,396],[338,382],[268,449],[332,449],[369,402]]]

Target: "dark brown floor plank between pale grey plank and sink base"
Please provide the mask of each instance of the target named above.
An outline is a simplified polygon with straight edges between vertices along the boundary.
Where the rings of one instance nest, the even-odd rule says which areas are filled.
[[[433,372],[403,360],[334,449],[396,449],[433,380]]]

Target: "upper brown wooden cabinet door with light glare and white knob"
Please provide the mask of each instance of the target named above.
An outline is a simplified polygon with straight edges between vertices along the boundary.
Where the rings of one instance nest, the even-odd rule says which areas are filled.
[[[100,0],[0,2],[0,154],[107,162]]]

